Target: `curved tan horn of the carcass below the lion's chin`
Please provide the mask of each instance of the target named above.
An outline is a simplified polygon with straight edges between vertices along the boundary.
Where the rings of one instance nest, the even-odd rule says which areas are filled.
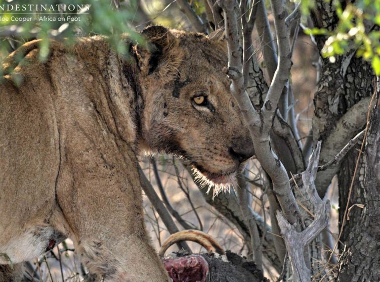
[[[199,230],[184,230],[174,233],[165,240],[160,248],[159,256],[163,257],[166,250],[173,244],[180,241],[193,241],[204,247],[209,253],[224,255],[226,252],[223,247],[210,235]]]

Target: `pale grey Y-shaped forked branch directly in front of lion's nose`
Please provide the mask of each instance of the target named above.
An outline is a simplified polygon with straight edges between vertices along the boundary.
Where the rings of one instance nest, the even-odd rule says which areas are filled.
[[[253,139],[253,146],[260,148],[256,150],[256,157],[264,170],[273,181],[273,188],[284,212],[286,219],[291,223],[297,223],[300,231],[302,219],[295,197],[291,191],[288,174],[271,149],[269,142],[269,131],[272,126],[272,119],[277,109],[277,103],[282,89],[288,81],[290,71],[290,46],[289,32],[284,22],[284,6],[280,1],[272,2],[277,29],[279,44],[279,64],[269,88],[264,105],[261,109],[255,110],[244,88],[242,70],[242,47],[239,42],[238,22],[236,9],[238,8],[234,0],[218,0],[224,11],[226,38],[228,46],[228,69],[227,75],[232,80],[230,91],[237,100],[239,108],[246,119]],[[280,34],[282,33],[282,34]],[[284,35],[285,34],[285,35]],[[285,36],[285,37],[284,37]]]

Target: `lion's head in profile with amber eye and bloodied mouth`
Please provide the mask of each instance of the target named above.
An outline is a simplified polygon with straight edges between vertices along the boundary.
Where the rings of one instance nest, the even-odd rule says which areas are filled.
[[[135,47],[144,99],[141,143],[188,159],[204,184],[228,187],[253,143],[223,73],[225,41],[153,26]]]

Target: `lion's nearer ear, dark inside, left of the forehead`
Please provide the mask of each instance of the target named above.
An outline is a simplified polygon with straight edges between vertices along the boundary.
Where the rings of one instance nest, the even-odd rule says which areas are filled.
[[[137,45],[135,51],[143,74],[149,75],[160,69],[170,68],[168,63],[175,63],[171,53],[175,52],[173,49],[178,46],[178,39],[167,28],[150,26],[141,35],[146,40],[146,45]]]

